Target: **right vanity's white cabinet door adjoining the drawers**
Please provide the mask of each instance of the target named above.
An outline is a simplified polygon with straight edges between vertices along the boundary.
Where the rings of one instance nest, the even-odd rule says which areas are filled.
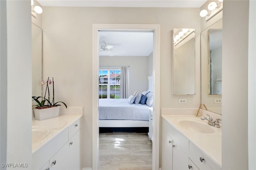
[[[186,170],[188,169],[188,156],[185,152],[175,143],[172,149],[172,170]]]

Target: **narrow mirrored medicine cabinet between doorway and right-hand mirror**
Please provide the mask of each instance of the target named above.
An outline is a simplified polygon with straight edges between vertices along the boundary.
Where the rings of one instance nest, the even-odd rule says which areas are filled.
[[[173,29],[173,94],[195,94],[195,29]]]

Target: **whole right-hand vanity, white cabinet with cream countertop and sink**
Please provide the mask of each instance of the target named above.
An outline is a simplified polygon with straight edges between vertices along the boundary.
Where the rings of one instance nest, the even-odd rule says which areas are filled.
[[[221,128],[192,115],[162,115],[162,170],[221,170]]]

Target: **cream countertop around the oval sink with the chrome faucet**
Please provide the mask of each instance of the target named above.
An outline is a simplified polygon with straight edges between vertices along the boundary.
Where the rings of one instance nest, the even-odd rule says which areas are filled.
[[[175,129],[185,135],[189,141],[194,143],[202,152],[212,158],[212,160],[221,168],[221,127],[212,127],[214,128],[214,133],[199,133],[182,127],[179,122],[182,119],[195,119],[202,121],[200,117],[196,117],[194,115],[162,115],[162,117]],[[202,122],[208,125],[206,120]]]

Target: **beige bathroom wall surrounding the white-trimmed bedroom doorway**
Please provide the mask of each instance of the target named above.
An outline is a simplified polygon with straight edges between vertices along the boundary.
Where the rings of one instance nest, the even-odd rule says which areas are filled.
[[[44,75],[55,80],[56,100],[84,108],[83,167],[92,167],[92,24],[160,24],[161,107],[198,107],[200,104],[200,18],[198,8],[83,8],[44,7],[42,16]],[[196,95],[185,105],[172,95],[173,28],[196,29]],[[44,78],[44,79],[45,79]]]

